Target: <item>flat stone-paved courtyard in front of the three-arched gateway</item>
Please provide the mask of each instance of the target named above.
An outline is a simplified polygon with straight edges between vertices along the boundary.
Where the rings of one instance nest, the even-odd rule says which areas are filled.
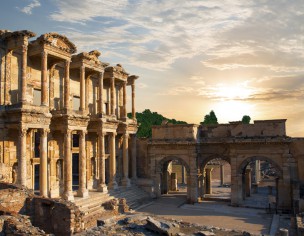
[[[200,225],[248,231],[252,234],[268,234],[272,214],[265,210],[231,207],[225,202],[201,202],[184,204],[185,195],[168,194],[156,199],[139,212],[158,215],[167,219],[182,220]]]

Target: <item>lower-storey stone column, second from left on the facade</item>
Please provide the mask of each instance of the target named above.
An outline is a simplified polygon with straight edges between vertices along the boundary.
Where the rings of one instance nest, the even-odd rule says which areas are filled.
[[[47,135],[49,130],[41,129],[40,130],[40,178],[39,178],[39,188],[40,195],[43,197],[48,197],[48,170],[47,170]]]

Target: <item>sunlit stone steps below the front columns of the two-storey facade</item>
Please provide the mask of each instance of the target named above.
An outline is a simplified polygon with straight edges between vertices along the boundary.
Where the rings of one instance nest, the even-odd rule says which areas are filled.
[[[96,226],[97,219],[107,214],[102,204],[113,199],[107,193],[90,191],[89,197],[81,198],[75,197],[75,204],[79,207],[79,210],[83,212],[84,229]]]

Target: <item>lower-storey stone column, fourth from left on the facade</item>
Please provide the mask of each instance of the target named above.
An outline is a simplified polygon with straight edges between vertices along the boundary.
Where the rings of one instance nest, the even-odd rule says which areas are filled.
[[[79,197],[89,196],[86,185],[87,158],[85,149],[85,135],[85,131],[79,131],[79,188],[77,192]]]

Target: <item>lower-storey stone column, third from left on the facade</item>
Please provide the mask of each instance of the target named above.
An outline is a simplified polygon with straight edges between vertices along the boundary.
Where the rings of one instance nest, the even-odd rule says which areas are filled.
[[[72,153],[71,153],[71,130],[64,134],[64,193],[63,198],[73,201],[72,189]]]

